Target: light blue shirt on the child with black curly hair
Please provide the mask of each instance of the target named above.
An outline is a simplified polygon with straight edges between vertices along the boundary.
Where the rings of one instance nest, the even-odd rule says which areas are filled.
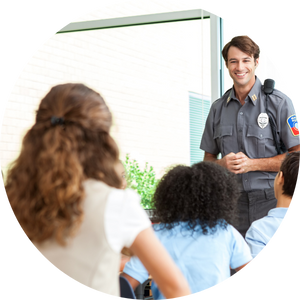
[[[158,229],[159,224],[153,225],[153,228]],[[249,246],[231,225],[226,229],[217,225],[216,232],[209,235],[203,235],[199,226],[197,232],[191,235],[187,222],[181,222],[171,230],[162,229],[155,234],[188,281],[193,297],[230,282],[229,266],[236,269],[252,260]],[[149,276],[135,256],[126,263],[123,272],[140,283]],[[151,290],[155,300],[165,300],[154,281]]]

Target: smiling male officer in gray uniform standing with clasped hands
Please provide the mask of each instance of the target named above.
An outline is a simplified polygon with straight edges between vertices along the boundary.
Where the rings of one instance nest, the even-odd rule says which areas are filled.
[[[237,174],[240,197],[238,220],[233,224],[245,237],[251,223],[276,207],[273,184],[286,153],[278,154],[266,113],[266,94],[255,76],[260,42],[251,34],[234,37],[222,55],[233,88],[210,109],[200,149],[204,160],[214,161]],[[291,100],[278,90],[268,96],[268,110],[277,126],[277,138],[288,152],[300,150],[299,116]],[[221,153],[222,158],[217,159]]]

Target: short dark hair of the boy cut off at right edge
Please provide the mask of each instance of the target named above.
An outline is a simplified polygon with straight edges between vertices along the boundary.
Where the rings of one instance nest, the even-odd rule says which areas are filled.
[[[280,171],[284,178],[283,194],[296,198],[300,182],[300,151],[288,153],[281,164]]]

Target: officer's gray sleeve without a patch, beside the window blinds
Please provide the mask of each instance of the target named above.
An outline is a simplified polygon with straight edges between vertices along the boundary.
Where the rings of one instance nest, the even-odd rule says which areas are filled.
[[[220,153],[220,149],[214,139],[214,109],[213,105],[210,108],[209,114],[206,119],[205,128],[203,131],[200,149],[218,155]]]

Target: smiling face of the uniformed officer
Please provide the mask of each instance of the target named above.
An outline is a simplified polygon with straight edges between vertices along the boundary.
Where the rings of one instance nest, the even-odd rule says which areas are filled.
[[[255,83],[255,68],[258,59],[254,62],[253,56],[242,52],[239,48],[231,46],[228,50],[227,68],[234,84],[240,87],[249,85],[251,88]]]

